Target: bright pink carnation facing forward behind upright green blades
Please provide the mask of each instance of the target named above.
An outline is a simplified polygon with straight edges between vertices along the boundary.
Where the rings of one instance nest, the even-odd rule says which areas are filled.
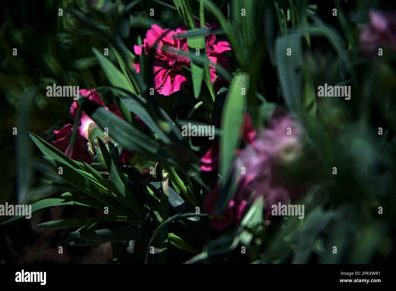
[[[197,26],[199,26],[198,23]],[[212,24],[209,28],[217,29],[218,27],[216,24]],[[143,44],[141,46],[135,45],[133,49],[136,55],[141,55],[143,51],[148,54],[159,39],[154,53],[154,87],[158,93],[168,96],[183,89],[187,84],[182,66],[190,67],[190,58],[168,51],[169,48],[176,51],[188,52],[187,38],[175,37],[179,34],[187,33],[184,25],[178,27],[176,30],[166,31],[167,29],[162,29],[156,24],[151,25],[151,28],[147,30]],[[224,53],[231,50],[230,44],[225,40],[217,38],[215,34],[207,34],[205,38],[209,61],[214,64],[220,63],[224,68],[228,69],[228,59]],[[139,63],[134,65],[137,72],[139,72]],[[211,82],[213,82],[216,76],[216,69],[210,65],[209,70]]]

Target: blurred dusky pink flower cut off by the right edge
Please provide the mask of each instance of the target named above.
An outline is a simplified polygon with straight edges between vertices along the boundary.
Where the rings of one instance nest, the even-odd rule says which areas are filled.
[[[360,34],[360,46],[366,53],[379,47],[396,50],[396,11],[370,11],[370,21]]]

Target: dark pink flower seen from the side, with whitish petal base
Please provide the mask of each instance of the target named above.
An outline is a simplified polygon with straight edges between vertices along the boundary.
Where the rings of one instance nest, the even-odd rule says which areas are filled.
[[[103,103],[102,99],[100,98],[99,94],[96,92],[95,88],[91,90],[81,89],[79,93],[82,97],[88,98],[89,100],[97,103],[102,107],[105,107],[106,110],[110,110],[114,114],[117,114],[120,118],[122,118],[121,113],[118,110],[116,104],[113,104],[110,106],[110,108],[107,108]],[[80,105],[76,101],[74,101],[72,105],[70,105],[69,112],[73,120],[76,119],[77,117],[77,112],[79,107]],[[145,124],[143,124],[143,122],[141,122],[141,120],[137,116],[135,116],[135,118],[139,121],[143,129],[145,129]],[[95,123],[95,122],[88,116],[88,114],[86,114],[83,111],[81,114],[80,125],[78,126],[78,133],[76,135],[76,140],[74,141],[73,148],[69,153],[69,157],[72,158],[73,160],[80,162],[84,161],[87,162],[88,164],[91,163],[91,157],[89,156],[88,146],[87,146],[87,142],[89,141],[89,137],[88,137],[89,124],[91,123]],[[55,148],[67,154],[67,152],[69,151],[72,131],[73,131],[72,124],[66,124],[60,130],[54,130],[53,132],[55,133],[56,140],[52,141],[51,144],[55,146]],[[120,162],[122,164],[126,164],[128,159],[132,157],[133,157],[133,153],[128,152],[127,150],[122,150],[120,154]]]

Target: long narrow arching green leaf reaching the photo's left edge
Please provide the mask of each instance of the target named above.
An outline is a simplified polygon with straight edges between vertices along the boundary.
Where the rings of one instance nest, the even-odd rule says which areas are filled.
[[[43,209],[43,208],[52,207],[52,206],[62,206],[62,205],[91,207],[91,208],[95,208],[95,209],[99,209],[99,210],[104,210],[104,207],[106,206],[99,202],[84,199],[84,198],[76,198],[76,197],[68,197],[68,196],[54,197],[54,198],[40,200],[40,201],[32,204],[32,212],[31,213],[34,213],[35,211]],[[23,219],[24,217],[25,217],[25,215],[15,215],[15,216],[11,217],[10,219],[8,219],[7,221],[0,223],[0,225],[13,223],[20,219]]]

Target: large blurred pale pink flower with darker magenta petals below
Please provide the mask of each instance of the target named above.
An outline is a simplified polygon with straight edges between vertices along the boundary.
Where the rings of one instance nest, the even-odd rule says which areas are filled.
[[[225,215],[212,219],[214,228],[225,228],[240,221],[247,204],[260,196],[265,198],[266,219],[269,219],[271,205],[287,204],[289,199],[301,196],[303,187],[282,175],[278,167],[297,158],[302,148],[301,135],[297,122],[282,110],[275,110],[265,132],[239,152],[235,169],[245,167],[246,173],[240,175],[240,185]],[[219,189],[209,194],[204,198],[204,205],[210,215],[215,215]]]

